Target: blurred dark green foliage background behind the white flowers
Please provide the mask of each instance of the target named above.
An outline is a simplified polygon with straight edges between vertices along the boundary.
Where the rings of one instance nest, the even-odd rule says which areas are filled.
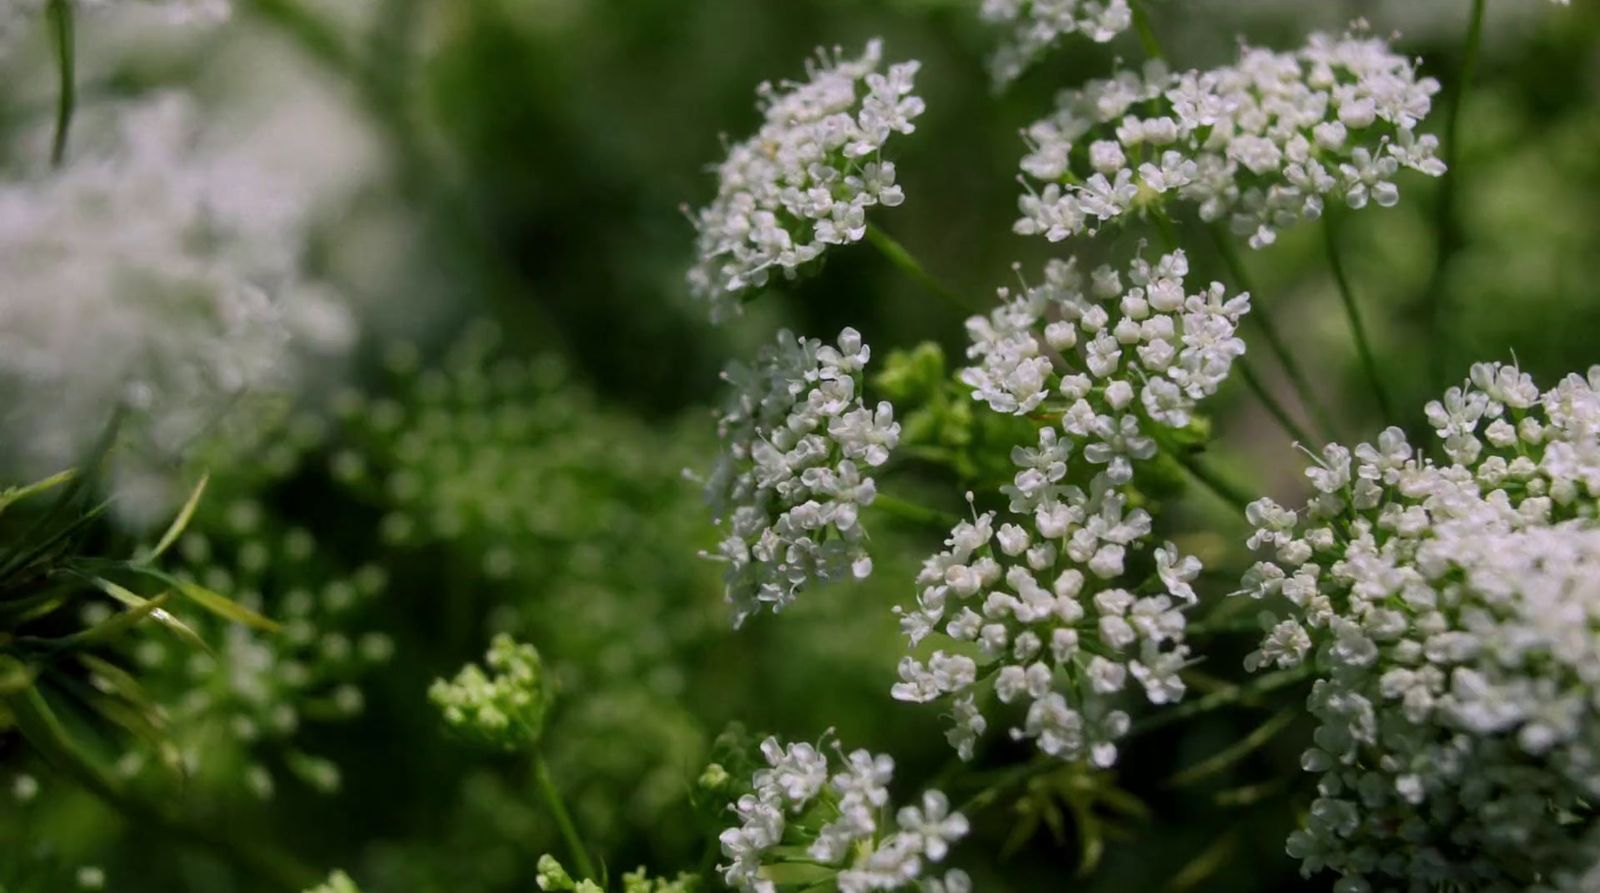
[[[1240,35],[1285,46],[1365,16],[1400,30],[1448,93],[1467,6],[1154,10],[1182,66],[1227,58]],[[1462,112],[1459,245],[1437,261],[1437,189],[1419,179],[1398,208],[1363,213],[1346,232],[1381,363],[1411,416],[1470,360],[1515,355],[1549,382],[1597,358],[1600,11],[1586,0],[1491,10]],[[680,206],[712,192],[720,134],[754,126],[754,86],[798,75],[814,46],[870,35],[891,58],[922,59],[930,109],[896,157],[907,203],[875,226],[974,298],[1006,283],[1016,261],[1037,267],[1050,248],[1010,232],[1018,131],[1059,86],[1136,54],[1133,43],[1074,45],[994,96],[992,35],[963,0],[240,0],[229,24],[194,34],[123,13],[86,19],[86,115],[181,86],[218,133],[317,182],[357,184],[325,214],[309,258],[358,307],[363,342],[325,387],[262,408],[270,434],[243,459],[210,463],[202,450],[187,472],[211,479],[168,568],[283,631],[181,611],[211,655],[163,629],[115,647],[165,706],[176,757],[104,728],[88,704],[62,704],[130,797],[186,818],[109,808],[0,731],[0,890],[91,885],[85,866],[120,891],[290,890],[331,866],[378,893],[533,890],[534,859],[558,839],[530,768],[448,741],[424,696],[498,631],[536,643],[552,667],[547,755],[614,874],[702,864],[720,818],[696,810],[696,778],[731,720],[795,738],[832,727],[894,754],[907,786],[938,776],[949,751],[936,717],[886,696],[899,655],[888,608],[938,535],[878,525],[870,581],[818,591],[734,635],[717,565],[698,557],[714,531],[682,475],[709,464],[718,368],[781,325],[854,325],[875,363],[923,341],[942,347],[947,368],[960,362],[960,315],[866,248],[830,253],[725,328],[683,288],[691,229]],[[0,62],[0,146],[18,176],[38,168],[29,134],[54,101],[37,37]],[[1226,278],[1198,227],[1184,243],[1202,274]],[[1346,435],[1370,435],[1376,408],[1315,227],[1246,264]],[[1442,325],[1456,344],[1437,366],[1430,288],[1446,296]],[[1261,493],[1298,490],[1301,459],[1248,395],[1224,395],[1211,424],[1232,477]],[[941,472],[906,474],[930,503],[962,509]],[[1206,559],[1210,591],[1227,592],[1243,567],[1238,520],[1176,482],[1155,496],[1179,503],[1165,523]],[[133,554],[158,533],[98,530],[91,544]],[[83,623],[107,615],[86,597]],[[1248,635],[1224,642],[1211,667],[1237,675],[1246,650]],[[1115,778],[1042,776],[990,807],[957,858],[976,855],[966,863],[987,891],[1317,888],[1282,842],[1307,784],[1304,728],[1173,784],[1269,717],[1218,712],[1136,739]],[[979,773],[1024,759],[1003,743],[992,751]]]

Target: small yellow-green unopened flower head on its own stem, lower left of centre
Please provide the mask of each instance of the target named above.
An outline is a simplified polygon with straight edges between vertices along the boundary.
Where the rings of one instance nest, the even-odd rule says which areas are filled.
[[[461,667],[456,679],[434,680],[427,699],[445,725],[461,738],[494,751],[525,751],[539,741],[554,691],[533,645],[499,634],[478,664]]]

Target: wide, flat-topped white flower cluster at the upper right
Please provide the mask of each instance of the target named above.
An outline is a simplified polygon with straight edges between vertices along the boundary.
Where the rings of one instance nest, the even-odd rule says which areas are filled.
[[[1390,206],[1402,168],[1440,176],[1438,139],[1418,134],[1438,82],[1366,35],[1314,34],[1293,53],[1243,48],[1213,70],[1142,72],[1064,91],[1026,131],[1016,232],[1051,242],[1171,198],[1259,248],[1317,218],[1330,195]]]

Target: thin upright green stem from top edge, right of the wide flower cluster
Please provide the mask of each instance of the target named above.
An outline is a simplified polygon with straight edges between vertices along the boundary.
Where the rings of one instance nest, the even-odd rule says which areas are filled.
[[[1472,85],[1472,75],[1478,67],[1478,48],[1483,43],[1483,11],[1488,0],[1472,0],[1472,18],[1467,24],[1466,45],[1461,50],[1461,70],[1456,72],[1454,90],[1445,106],[1445,178],[1438,184],[1438,202],[1434,206],[1434,229],[1438,234],[1438,245],[1434,251],[1434,272],[1429,275],[1424,306],[1427,312],[1427,328],[1432,357],[1432,384],[1435,389],[1445,387],[1451,374],[1450,365],[1454,357],[1450,354],[1450,338],[1446,328],[1450,320],[1450,293],[1445,286],[1445,270],[1450,261],[1466,243],[1461,221],[1456,214],[1461,184],[1461,107]]]

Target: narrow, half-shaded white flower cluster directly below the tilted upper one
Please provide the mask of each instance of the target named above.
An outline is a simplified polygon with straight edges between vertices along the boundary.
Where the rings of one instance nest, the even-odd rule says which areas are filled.
[[[861,398],[870,355],[853,328],[837,346],[782,331],[754,365],[723,373],[733,395],[706,495],[728,525],[717,557],[734,624],[762,605],[782,610],[810,581],[872,573],[859,515],[901,426],[894,406]]]

